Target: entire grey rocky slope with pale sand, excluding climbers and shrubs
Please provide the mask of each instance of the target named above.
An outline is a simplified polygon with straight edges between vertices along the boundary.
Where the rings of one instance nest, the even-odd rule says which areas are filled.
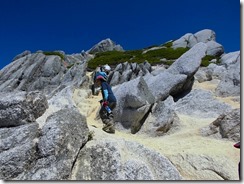
[[[211,30],[183,38],[173,46],[188,40],[190,49],[171,66],[125,61],[110,74],[115,134],[102,131],[86,69],[94,53],[120,45],[16,56],[0,71],[0,178],[238,180],[240,52],[213,49]],[[200,67],[210,50],[220,64]]]

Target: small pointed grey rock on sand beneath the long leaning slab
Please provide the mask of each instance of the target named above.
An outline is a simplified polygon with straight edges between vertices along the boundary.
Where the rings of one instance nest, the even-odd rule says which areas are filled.
[[[149,136],[160,136],[172,132],[172,128],[179,125],[179,117],[174,111],[173,104],[174,101],[171,96],[165,101],[156,103],[142,125],[140,133],[146,133]]]

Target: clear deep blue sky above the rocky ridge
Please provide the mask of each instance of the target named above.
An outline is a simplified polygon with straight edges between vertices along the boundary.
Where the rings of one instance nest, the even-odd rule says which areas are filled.
[[[88,50],[111,38],[142,49],[212,29],[225,52],[240,50],[238,0],[3,0],[0,69],[25,50]]]

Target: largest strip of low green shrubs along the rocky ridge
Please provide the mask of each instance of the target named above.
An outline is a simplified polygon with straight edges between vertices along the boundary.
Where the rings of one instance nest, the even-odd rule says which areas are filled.
[[[125,52],[107,51],[96,54],[95,58],[88,62],[88,68],[95,69],[99,65],[109,64],[111,66],[123,62],[143,63],[148,61],[151,65],[161,63],[160,59],[175,60],[189,50],[189,48],[170,48],[172,42],[167,42],[166,48],[151,50],[142,54],[143,50],[130,50]],[[154,46],[151,46],[152,48]],[[171,62],[169,62],[171,63]]]

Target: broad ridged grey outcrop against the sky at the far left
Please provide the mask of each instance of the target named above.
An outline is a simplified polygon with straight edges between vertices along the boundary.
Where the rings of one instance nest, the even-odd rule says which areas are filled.
[[[45,55],[42,52],[21,57],[1,70],[0,91],[39,90],[48,95],[59,85],[67,82],[82,85],[87,80],[85,77],[87,62],[85,59],[83,61],[72,57],[68,59],[63,60],[60,56]]]

